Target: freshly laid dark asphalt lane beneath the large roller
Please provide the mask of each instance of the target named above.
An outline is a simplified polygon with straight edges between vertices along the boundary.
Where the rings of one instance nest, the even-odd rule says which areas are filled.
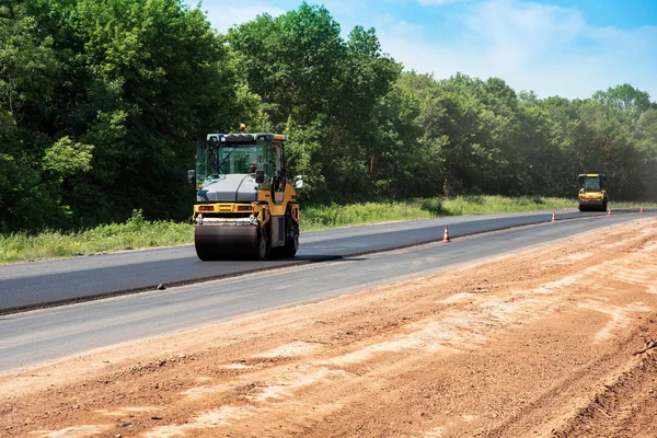
[[[638,212],[614,210],[613,215]],[[606,216],[558,210],[557,221]],[[0,266],[0,314],[44,306],[181,286],[250,272],[401,249],[493,230],[550,222],[551,211],[482,215],[384,223],[301,234],[291,260],[200,262],[193,245]]]

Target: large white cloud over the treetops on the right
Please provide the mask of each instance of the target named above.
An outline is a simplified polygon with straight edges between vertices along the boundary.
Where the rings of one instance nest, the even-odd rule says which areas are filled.
[[[437,79],[459,71],[499,77],[516,90],[569,99],[627,82],[657,100],[657,27],[592,27],[576,9],[515,0],[491,0],[468,11],[458,18],[462,33],[448,42],[382,20],[377,27],[382,48],[406,69]]]

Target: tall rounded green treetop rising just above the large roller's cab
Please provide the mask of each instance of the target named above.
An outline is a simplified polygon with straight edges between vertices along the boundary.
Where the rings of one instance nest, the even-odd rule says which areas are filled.
[[[263,14],[228,38],[275,129],[290,116],[307,124],[330,110],[346,47],[325,8],[302,3],[276,19]]]

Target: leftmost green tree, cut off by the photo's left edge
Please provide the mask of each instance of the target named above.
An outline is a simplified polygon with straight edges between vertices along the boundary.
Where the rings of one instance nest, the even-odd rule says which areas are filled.
[[[24,2],[0,5],[0,231],[61,223],[59,184],[41,177],[56,79],[53,38]]]

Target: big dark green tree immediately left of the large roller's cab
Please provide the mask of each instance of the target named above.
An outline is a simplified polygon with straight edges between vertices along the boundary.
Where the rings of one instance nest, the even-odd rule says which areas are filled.
[[[97,192],[105,216],[139,207],[147,216],[184,217],[194,139],[245,116],[222,39],[178,0],[81,0],[71,24],[84,46],[85,89],[106,103],[84,112],[92,118],[82,140],[93,137],[96,152],[94,172],[76,182],[88,187],[77,204],[89,199],[87,214],[97,210],[99,198],[87,196]],[[80,97],[78,107],[94,103]]]

